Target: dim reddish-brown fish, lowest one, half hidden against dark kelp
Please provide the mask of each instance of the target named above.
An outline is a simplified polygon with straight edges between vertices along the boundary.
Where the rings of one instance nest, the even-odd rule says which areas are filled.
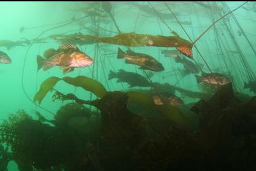
[[[154,93],[152,94],[152,98],[154,100],[154,104],[156,105],[173,105],[179,106],[183,105],[184,101],[175,95],[171,95],[170,93]]]

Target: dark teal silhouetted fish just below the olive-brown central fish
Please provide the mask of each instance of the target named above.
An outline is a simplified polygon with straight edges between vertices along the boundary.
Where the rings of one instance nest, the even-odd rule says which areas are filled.
[[[115,73],[110,70],[108,80],[117,78],[116,82],[127,82],[131,87],[150,87],[150,82],[142,75],[134,72],[126,72],[125,70],[119,70]]]

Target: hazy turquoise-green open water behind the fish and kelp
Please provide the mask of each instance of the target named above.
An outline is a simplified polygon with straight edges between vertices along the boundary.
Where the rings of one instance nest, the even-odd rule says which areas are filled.
[[[97,3],[97,2],[96,2]],[[194,41],[215,20],[228,11],[238,7],[243,2],[167,2],[175,16],[186,30],[182,29],[175,17],[167,9],[163,2],[151,2],[158,13],[167,14],[165,18],[159,18],[148,2],[112,2],[112,14],[121,32],[135,32],[136,34],[152,34],[172,36],[173,34],[163,23],[162,19],[183,39],[188,39],[186,33]],[[127,72],[141,74],[146,79],[145,73],[152,74],[152,82],[169,83],[189,91],[207,92],[202,86],[198,86],[195,74],[182,74],[184,66],[175,62],[175,57],[165,57],[162,53],[165,49],[173,47],[131,47],[137,53],[146,53],[154,57],[165,68],[162,72],[149,72],[140,70],[139,66],[125,64],[124,59],[117,59],[117,49],[125,50],[125,46],[108,43],[91,43],[78,45],[79,49],[89,55],[94,63],[85,68],[75,68],[73,72],[63,75],[59,67],[50,70],[37,71],[37,55],[43,55],[49,48],[58,49],[62,44],[49,36],[54,34],[68,35],[82,33],[91,36],[111,37],[118,34],[118,30],[110,17],[87,16],[79,22],[72,22],[77,18],[89,15],[91,2],[1,2],[1,32],[0,51],[4,51],[12,59],[12,64],[0,64],[0,119],[7,119],[8,114],[15,114],[19,109],[24,109],[33,118],[37,118],[35,112],[40,112],[45,118],[51,120],[52,114],[37,107],[33,98],[39,91],[41,83],[51,76],[87,76],[98,80],[107,91],[129,91],[129,89],[146,90],[145,87],[129,87],[125,82],[108,80],[110,70],[117,72],[123,69]],[[95,5],[94,8],[100,7]],[[143,8],[145,7],[145,8]],[[106,14],[103,13],[106,16]],[[169,16],[168,16],[169,15]],[[250,96],[253,91],[244,89],[244,82],[255,81],[255,16],[256,4],[249,2],[238,10],[229,14],[213,26],[193,47],[194,61],[204,72],[209,73],[206,63],[212,72],[226,74],[231,78],[233,89]],[[68,24],[69,22],[72,22]],[[65,25],[66,24],[66,25]],[[62,26],[65,25],[65,26]],[[23,29],[22,29],[23,28]],[[95,32],[88,30],[94,30]],[[7,49],[4,40],[19,41],[43,39],[43,43],[14,46]],[[11,45],[12,46],[12,45]],[[254,48],[254,49],[253,49]],[[203,61],[205,60],[205,62]],[[192,61],[192,60],[191,60]],[[198,74],[199,75],[199,74]],[[23,87],[23,88],[22,88]],[[81,99],[95,99],[95,95],[81,87],[73,87],[64,81],[58,82],[56,87],[64,94],[73,93]],[[53,93],[48,93],[41,107],[56,114],[60,107],[68,102],[52,101]],[[199,98],[186,97],[180,92],[175,92],[185,104],[196,103]],[[70,102],[70,101],[69,101]],[[12,161],[8,170],[18,170]]]

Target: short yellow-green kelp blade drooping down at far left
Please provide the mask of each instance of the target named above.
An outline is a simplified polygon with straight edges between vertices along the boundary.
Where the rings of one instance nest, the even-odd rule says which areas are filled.
[[[38,101],[40,104],[43,98],[45,97],[45,95],[49,91],[54,89],[54,86],[59,80],[61,80],[61,78],[58,78],[56,76],[51,76],[50,78],[47,78],[47,80],[43,81],[43,83],[41,84],[40,90],[35,94],[33,101],[34,102]]]

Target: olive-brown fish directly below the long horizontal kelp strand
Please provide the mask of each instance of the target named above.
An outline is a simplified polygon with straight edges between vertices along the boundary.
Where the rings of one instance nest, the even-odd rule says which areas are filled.
[[[135,64],[140,66],[140,69],[142,70],[152,70],[157,72],[165,70],[163,65],[156,61],[154,57],[144,53],[133,52],[131,49],[128,49],[126,52],[124,52],[119,48],[117,58],[125,58],[125,64]]]

